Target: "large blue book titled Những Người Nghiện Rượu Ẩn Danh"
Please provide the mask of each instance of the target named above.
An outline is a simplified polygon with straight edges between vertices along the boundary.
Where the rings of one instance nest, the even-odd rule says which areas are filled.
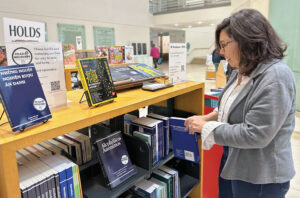
[[[0,96],[13,131],[52,118],[33,64],[0,67]]]

